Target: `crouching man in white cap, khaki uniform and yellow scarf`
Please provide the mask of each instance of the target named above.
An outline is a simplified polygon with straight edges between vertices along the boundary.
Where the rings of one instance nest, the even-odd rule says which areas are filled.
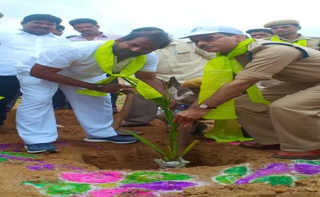
[[[217,58],[204,68],[198,105],[177,114],[174,122],[185,126],[201,117],[237,118],[256,142],[240,147],[281,150],[272,155],[277,158],[320,158],[319,51],[248,39],[224,26],[198,27],[187,37],[217,52]],[[270,79],[280,82],[260,91],[255,86]]]

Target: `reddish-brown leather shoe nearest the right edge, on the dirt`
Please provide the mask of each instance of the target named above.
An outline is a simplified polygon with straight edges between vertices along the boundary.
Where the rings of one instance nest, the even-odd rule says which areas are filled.
[[[275,158],[282,159],[293,159],[293,160],[314,160],[320,158],[320,149],[315,151],[307,152],[291,152],[291,151],[280,151],[271,155]]]

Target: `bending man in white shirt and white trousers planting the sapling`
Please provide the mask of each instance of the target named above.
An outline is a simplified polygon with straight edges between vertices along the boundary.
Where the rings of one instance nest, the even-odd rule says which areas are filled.
[[[135,72],[136,78],[164,93],[156,79],[159,59],[155,53],[171,42],[166,33],[130,33],[115,40],[112,45],[112,72],[117,73],[136,57],[147,54],[144,66]],[[110,95],[88,96],[78,94],[81,89],[103,93],[126,92],[130,86],[120,84],[99,85],[105,71],[96,62],[96,50],[104,41],[71,42],[41,53],[38,57],[22,61],[16,66],[23,94],[17,110],[17,129],[27,144],[29,153],[57,152],[51,142],[58,137],[52,96],[58,87],[69,100],[73,111],[86,133],[85,141],[133,143],[134,137],[118,135],[113,122]],[[110,43],[110,42],[108,42]],[[109,55],[103,57],[110,57]],[[172,100],[174,103],[174,100]]]

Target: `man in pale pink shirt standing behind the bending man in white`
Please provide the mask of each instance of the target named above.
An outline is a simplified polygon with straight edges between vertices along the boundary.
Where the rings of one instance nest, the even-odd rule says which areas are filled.
[[[69,38],[71,41],[88,41],[88,40],[116,40],[121,38],[121,35],[110,34],[110,33],[103,33],[99,32],[100,26],[96,20],[81,18],[81,19],[74,19],[69,21],[69,24],[73,27],[73,29],[79,33],[79,36]],[[108,75],[107,75],[108,76]],[[118,79],[112,81],[112,84],[118,84]],[[112,110],[113,114],[118,113],[117,109],[117,94],[111,94],[111,101],[112,101]]]

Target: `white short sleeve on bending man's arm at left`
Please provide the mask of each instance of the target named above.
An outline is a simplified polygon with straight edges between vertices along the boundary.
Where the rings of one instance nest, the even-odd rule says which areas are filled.
[[[57,46],[40,53],[35,63],[54,68],[66,68],[80,59],[77,51],[78,49],[70,46]]]

